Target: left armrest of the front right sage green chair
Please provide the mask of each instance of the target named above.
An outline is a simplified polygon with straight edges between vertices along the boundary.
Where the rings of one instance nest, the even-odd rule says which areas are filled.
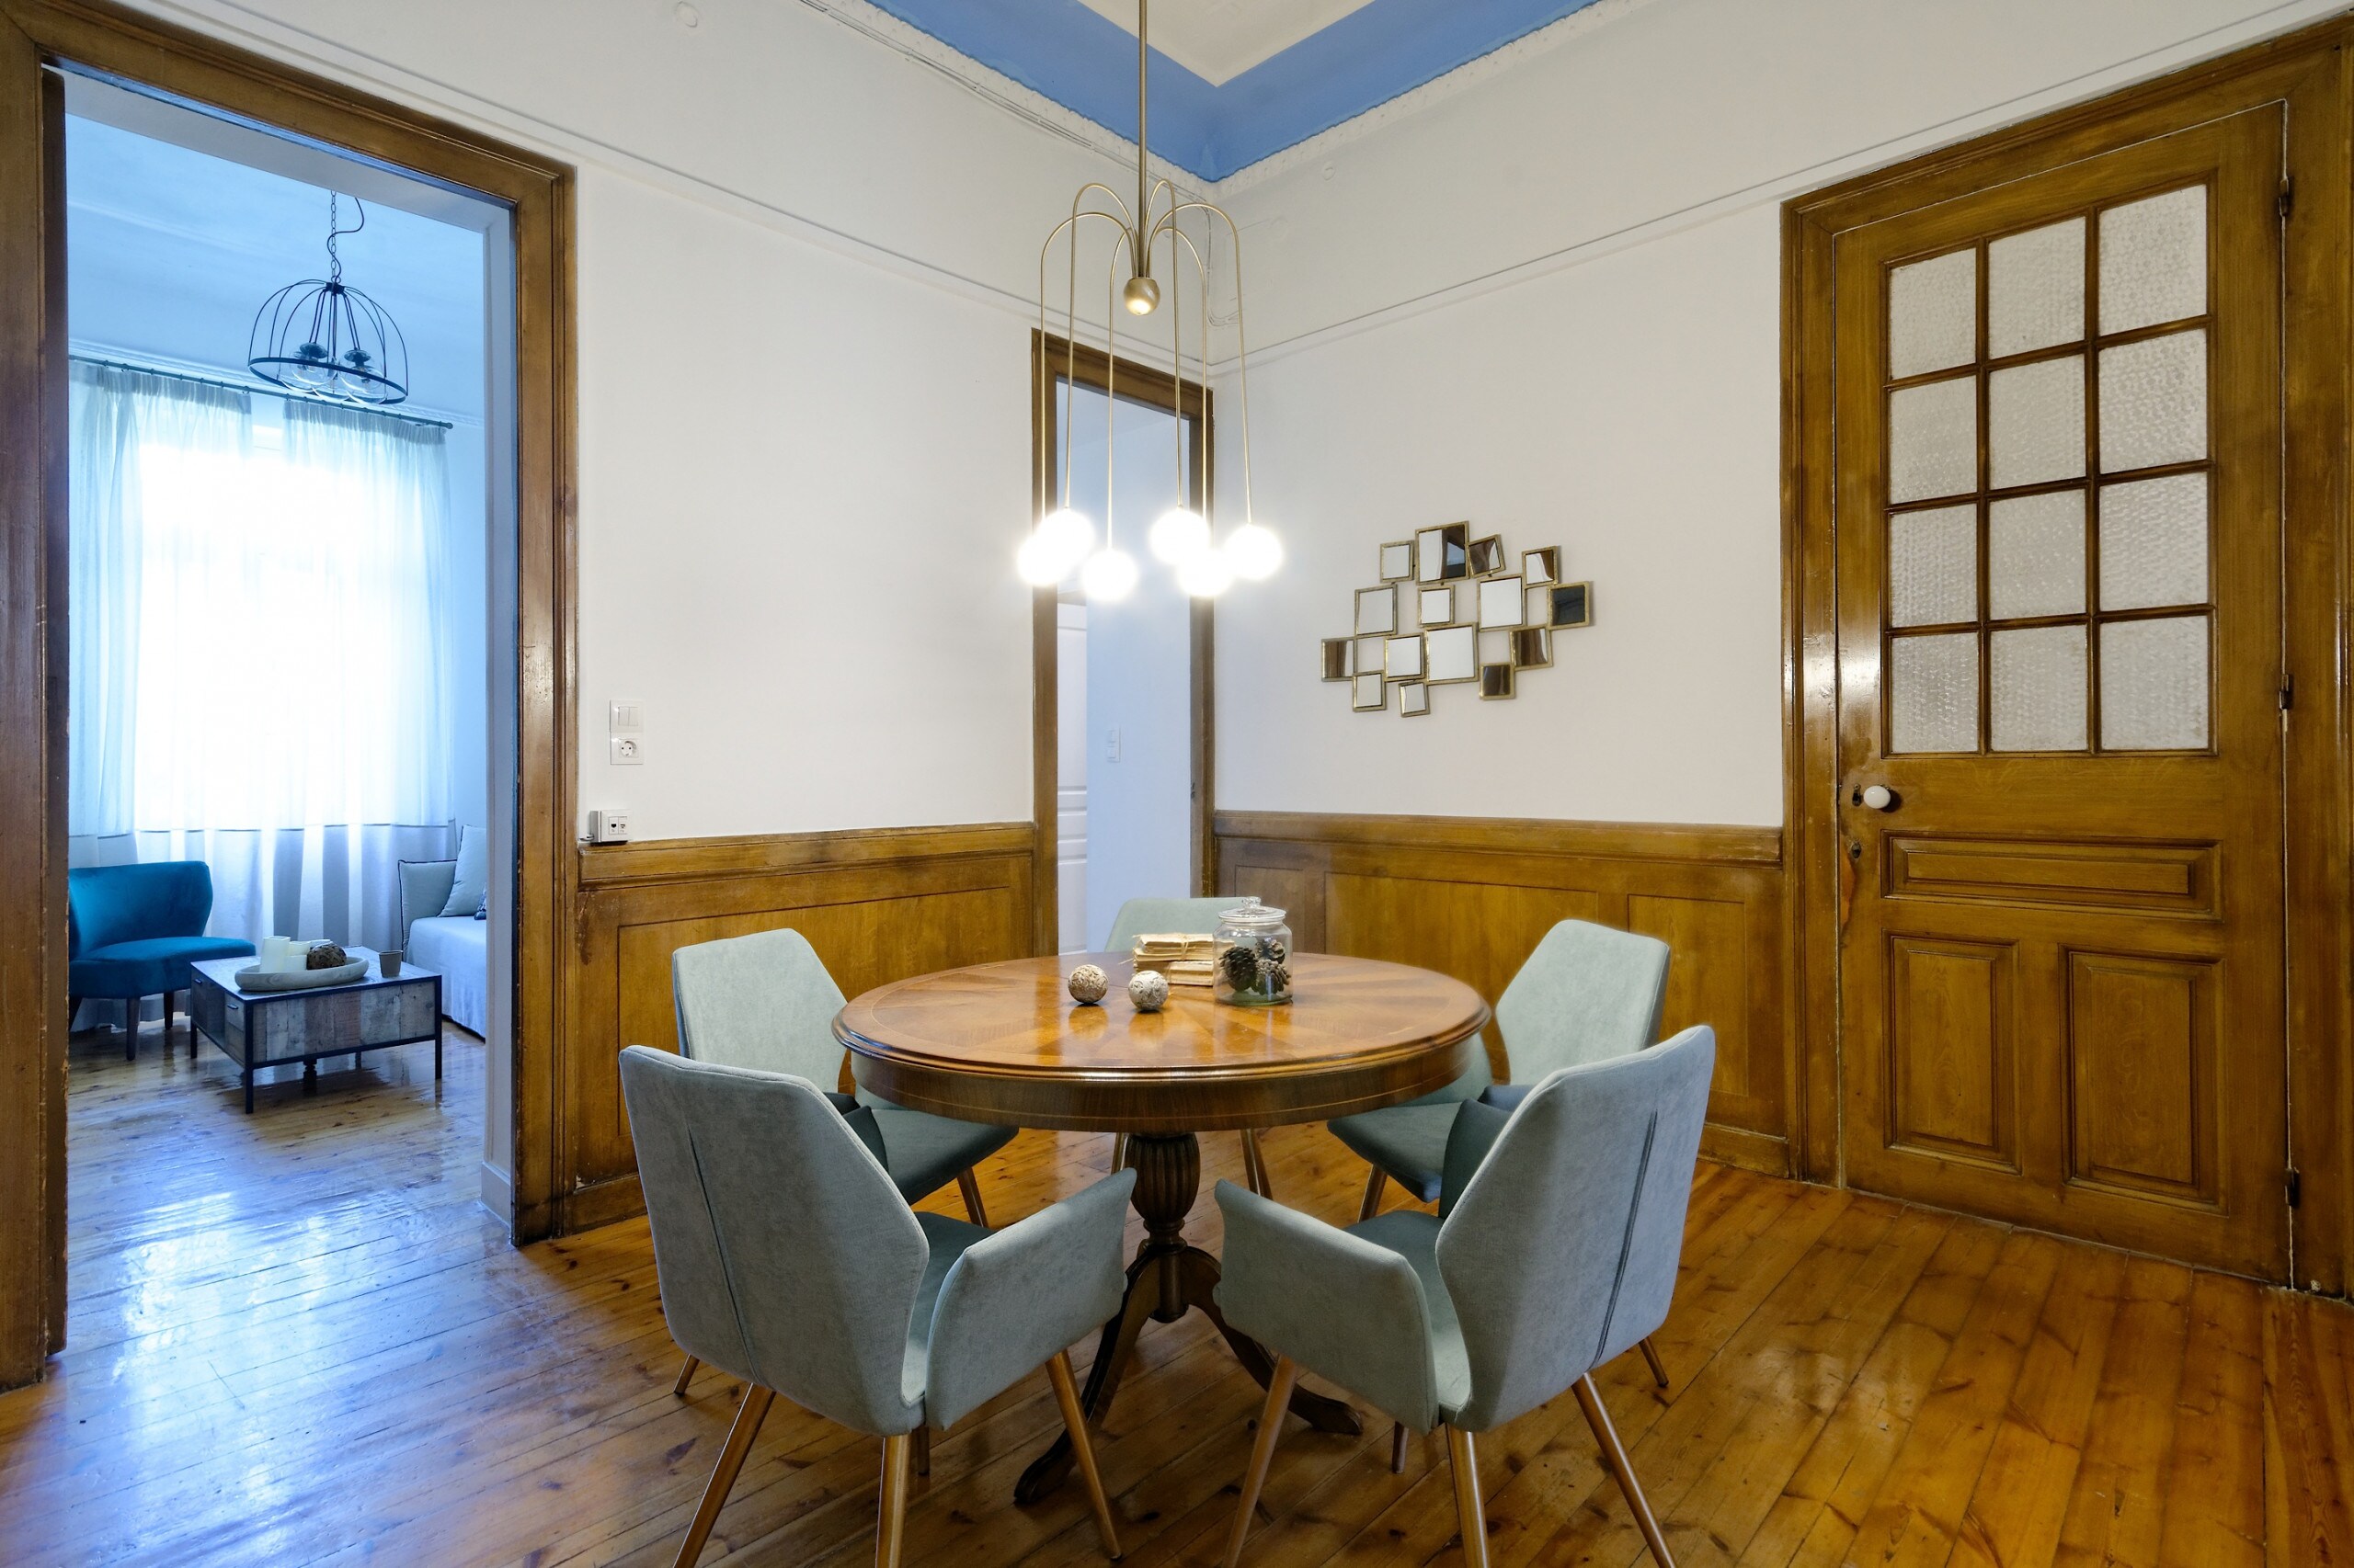
[[[1226,1215],[1217,1285],[1226,1323],[1429,1431],[1438,1373],[1415,1264],[1233,1182],[1217,1184],[1217,1208]]]

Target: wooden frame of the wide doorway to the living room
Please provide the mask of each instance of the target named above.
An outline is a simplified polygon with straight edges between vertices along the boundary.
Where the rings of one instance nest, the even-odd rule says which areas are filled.
[[[47,66],[160,89],[513,210],[518,1243],[556,1217],[577,881],[577,443],[567,165],[108,0],[0,0],[0,68],[38,75],[0,85],[0,113],[19,99],[47,106],[33,125],[0,127],[0,1149],[40,1151],[0,1156],[0,1387],[14,1387],[66,1337],[66,191],[54,139],[64,99]]]

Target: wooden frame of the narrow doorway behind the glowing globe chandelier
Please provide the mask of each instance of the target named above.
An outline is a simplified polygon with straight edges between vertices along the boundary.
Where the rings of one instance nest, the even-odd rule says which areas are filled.
[[[1137,365],[1130,358],[1113,360],[1102,348],[1071,344],[1055,332],[1031,330],[1031,516],[1043,518],[1055,497],[1055,386],[1059,379],[1111,391],[1118,381],[1121,398],[1135,398],[1172,414],[1193,417],[1193,436],[1186,452],[1186,480],[1191,504],[1210,516],[1210,492],[1205,490],[1203,457],[1212,450],[1217,431],[1217,398],[1201,381],[1179,381],[1168,370]],[[1151,560],[1142,563],[1151,570]],[[1038,954],[1062,946],[1062,885],[1057,876],[1055,845],[1059,819],[1062,775],[1062,723],[1059,687],[1062,657],[1057,638],[1059,589],[1031,593],[1031,822],[1038,843],[1031,850],[1033,928],[1031,942]],[[1212,786],[1217,782],[1217,638],[1212,600],[1196,598],[1191,612],[1193,669],[1189,680],[1189,730],[1193,735],[1193,812],[1189,822],[1191,843],[1186,864],[1193,869],[1193,897],[1208,897],[1217,888],[1217,836],[1212,831]]]

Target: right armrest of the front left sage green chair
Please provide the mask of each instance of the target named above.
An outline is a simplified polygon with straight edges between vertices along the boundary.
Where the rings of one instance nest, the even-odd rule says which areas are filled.
[[[925,1410],[949,1427],[1121,1311],[1121,1231],[1135,1170],[991,1231],[939,1285]]]

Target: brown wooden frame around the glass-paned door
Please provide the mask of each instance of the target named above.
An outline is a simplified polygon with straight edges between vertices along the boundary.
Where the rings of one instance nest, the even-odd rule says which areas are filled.
[[[2283,735],[2288,1149],[2295,1283],[2342,1293],[2354,1255],[2349,876],[2349,165],[2354,19],[2286,33],[1782,207],[1782,709],[1794,1163],[1843,1182],[1838,1038],[1838,638],[1831,250],[1841,231],[2260,104],[2288,106],[2283,238]],[[1817,412],[1820,410],[1820,412]],[[2286,1172],[2283,1172],[2286,1175]]]

